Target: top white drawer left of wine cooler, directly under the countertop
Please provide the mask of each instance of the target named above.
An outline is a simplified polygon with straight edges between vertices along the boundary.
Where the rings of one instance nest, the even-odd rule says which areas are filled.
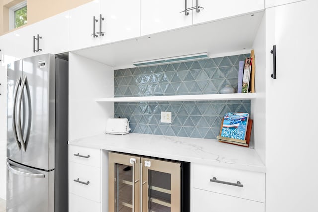
[[[100,167],[100,149],[69,146],[69,161]]]

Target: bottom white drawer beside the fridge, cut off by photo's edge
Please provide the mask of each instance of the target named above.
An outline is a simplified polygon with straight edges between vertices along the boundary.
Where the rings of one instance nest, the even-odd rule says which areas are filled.
[[[100,212],[100,203],[69,194],[69,212]]]

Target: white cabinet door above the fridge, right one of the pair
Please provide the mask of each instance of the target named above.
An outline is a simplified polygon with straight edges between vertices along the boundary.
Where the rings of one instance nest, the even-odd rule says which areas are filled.
[[[41,30],[40,54],[58,54],[69,50],[69,12],[63,12],[36,23]]]

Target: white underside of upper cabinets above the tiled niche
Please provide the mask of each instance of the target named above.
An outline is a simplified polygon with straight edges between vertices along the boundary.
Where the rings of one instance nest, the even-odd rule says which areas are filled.
[[[263,12],[195,25],[74,51],[76,54],[122,69],[133,62],[208,52],[222,53],[252,49]]]

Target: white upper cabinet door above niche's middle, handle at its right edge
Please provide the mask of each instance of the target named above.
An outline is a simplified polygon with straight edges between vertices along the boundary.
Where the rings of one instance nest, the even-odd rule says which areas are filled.
[[[188,8],[192,0],[187,0]],[[141,0],[141,35],[192,25],[192,12],[185,15],[185,0]]]

